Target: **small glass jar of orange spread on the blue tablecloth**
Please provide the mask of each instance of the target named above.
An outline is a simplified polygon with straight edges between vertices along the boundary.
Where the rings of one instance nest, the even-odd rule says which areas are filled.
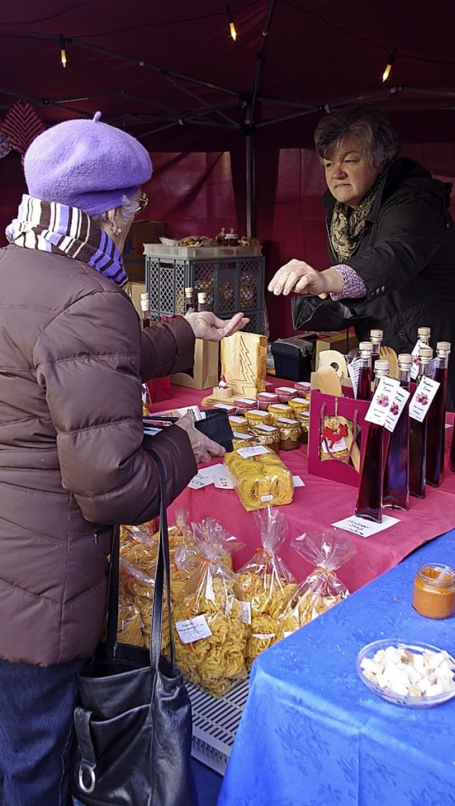
[[[421,616],[448,618],[455,613],[455,571],[448,565],[428,563],[417,569],[412,607]]]

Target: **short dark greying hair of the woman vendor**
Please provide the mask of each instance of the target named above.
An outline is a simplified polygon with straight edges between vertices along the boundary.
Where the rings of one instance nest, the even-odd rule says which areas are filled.
[[[379,106],[356,103],[331,112],[319,121],[315,131],[315,147],[321,160],[340,145],[346,135],[355,135],[378,168],[399,153],[401,140],[389,118]]]

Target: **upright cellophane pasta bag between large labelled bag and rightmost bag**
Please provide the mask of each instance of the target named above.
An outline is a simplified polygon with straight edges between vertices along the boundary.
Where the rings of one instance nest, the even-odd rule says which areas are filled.
[[[267,507],[255,512],[254,519],[261,533],[261,548],[238,571],[251,616],[245,650],[247,667],[277,641],[279,615],[296,587],[294,575],[278,555],[287,535],[283,513]]]

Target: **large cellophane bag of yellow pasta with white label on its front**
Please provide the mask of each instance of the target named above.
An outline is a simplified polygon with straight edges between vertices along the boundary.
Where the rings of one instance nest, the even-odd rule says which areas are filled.
[[[213,518],[192,526],[202,559],[173,605],[176,660],[187,679],[220,696],[247,675],[244,592],[224,562],[232,541],[220,542],[223,527]]]

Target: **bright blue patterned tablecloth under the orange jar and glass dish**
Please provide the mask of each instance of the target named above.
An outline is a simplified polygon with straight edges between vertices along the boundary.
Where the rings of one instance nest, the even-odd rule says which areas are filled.
[[[259,656],[218,806],[455,806],[455,699],[387,703],[355,665],[379,638],[455,654],[455,617],[411,607],[424,562],[455,567],[455,530]]]

